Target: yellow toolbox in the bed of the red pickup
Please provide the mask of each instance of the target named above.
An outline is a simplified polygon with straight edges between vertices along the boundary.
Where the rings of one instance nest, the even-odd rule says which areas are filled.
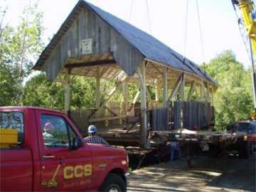
[[[18,131],[16,129],[0,129],[0,148],[10,148],[18,142]]]

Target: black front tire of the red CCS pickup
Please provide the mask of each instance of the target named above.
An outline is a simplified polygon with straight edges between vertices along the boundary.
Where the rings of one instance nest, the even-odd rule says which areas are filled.
[[[117,174],[109,174],[105,181],[102,183],[100,187],[100,191],[107,192],[126,192],[127,185],[122,179],[121,176]]]

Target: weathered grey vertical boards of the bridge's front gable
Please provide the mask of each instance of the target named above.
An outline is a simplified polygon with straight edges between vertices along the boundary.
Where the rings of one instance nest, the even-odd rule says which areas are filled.
[[[82,40],[92,39],[92,54],[111,53],[128,75],[133,75],[144,56],[131,46],[108,23],[89,9],[83,8],[68,31],[46,60],[48,78],[54,80],[68,57],[82,55]]]

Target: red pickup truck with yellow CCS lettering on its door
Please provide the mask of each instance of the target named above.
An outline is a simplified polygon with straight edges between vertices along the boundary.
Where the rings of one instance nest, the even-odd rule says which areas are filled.
[[[18,130],[18,144],[0,149],[0,191],[127,190],[126,151],[85,143],[63,112],[0,107],[0,128]]]

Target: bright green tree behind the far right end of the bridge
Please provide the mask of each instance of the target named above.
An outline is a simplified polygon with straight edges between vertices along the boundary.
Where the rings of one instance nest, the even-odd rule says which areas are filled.
[[[250,70],[243,68],[231,50],[225,50],[210,60],[206,71],[221,85],[214,97],[216,129],[247,118],[253,107]]]

